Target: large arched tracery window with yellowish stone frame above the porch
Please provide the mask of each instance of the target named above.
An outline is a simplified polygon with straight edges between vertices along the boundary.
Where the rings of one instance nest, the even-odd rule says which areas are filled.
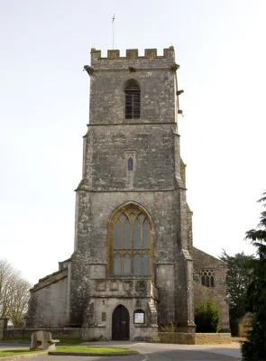
[[[151,224],[139,208],[126,208],[112,224],[111,273],[151,274]]]

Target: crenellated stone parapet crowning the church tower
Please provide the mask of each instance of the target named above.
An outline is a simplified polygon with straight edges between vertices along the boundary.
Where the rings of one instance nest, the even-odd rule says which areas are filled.
[[[163,50],[157,55],[157,49],[145,49],[144,56],[139,56],[138,49],[127,49],[126,56],[121,57],[119,50],[108,50],[107,58],[102,58],[101,51],[91,49],[91,65],[95,69],[124,69],[137,66],[142,69],[167,68],[175,62],[174,47]]]

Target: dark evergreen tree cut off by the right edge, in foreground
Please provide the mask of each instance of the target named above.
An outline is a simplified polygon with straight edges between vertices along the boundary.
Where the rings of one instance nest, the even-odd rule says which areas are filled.
[[[266,192],[258,202],[266,207]],[[257,229],[246,232],[257,248],[258,258],[252,260],[254,278],[247,292],[247,309],[252,312],[251,329],[242,343],[243,361],[266,361],[266,211],[261,212]]]

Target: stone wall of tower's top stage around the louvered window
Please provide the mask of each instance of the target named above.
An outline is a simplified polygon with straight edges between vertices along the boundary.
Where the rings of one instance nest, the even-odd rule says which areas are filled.
[[[141,120],[137,123],[175,122],[176,95],[173,49],[164,57],[144,59],[101,59],[100,51],[92,51],[90,77],[90,125],[133,123],[124,116],[124,84],[136,79],[141,88]],[[119,56],[118,56],[119,58]],[[130,72],[129,67],[136,69]]]

